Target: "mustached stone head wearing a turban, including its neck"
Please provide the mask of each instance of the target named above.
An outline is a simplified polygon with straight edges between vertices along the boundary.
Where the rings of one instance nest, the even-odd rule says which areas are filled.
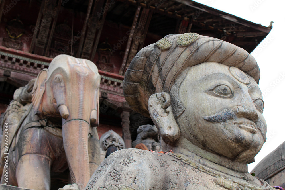
[[[152,118],[163,151],[191,144],[201,154],[247,164],[266,141],[259,77],[256,60],[242,48],[171,34],[139,51],[123,90],[132,109]]]

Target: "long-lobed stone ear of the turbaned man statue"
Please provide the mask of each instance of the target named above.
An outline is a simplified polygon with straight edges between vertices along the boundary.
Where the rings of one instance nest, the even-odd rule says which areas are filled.
[[[170,102],[170,95],[166,92],[153,94],[148,99],[148,110],[162,140],[174,145],[180,137],[180,128],[172,113]]]

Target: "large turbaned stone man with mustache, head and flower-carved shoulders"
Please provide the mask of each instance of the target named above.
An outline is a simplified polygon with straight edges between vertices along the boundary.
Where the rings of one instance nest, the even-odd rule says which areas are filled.
[[[266,141],[259,76],[247,51],[196,33],[141,49],[124,96],[152,118],[165,154],[113,152],[85,189],[274,189],[247,171]]]

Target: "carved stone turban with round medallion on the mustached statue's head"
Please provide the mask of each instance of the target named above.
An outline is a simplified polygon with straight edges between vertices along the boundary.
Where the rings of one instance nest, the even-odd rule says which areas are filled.
[[[148,99],[158,92],[170,92],[180,73],[203,62],[234,66],[258,83],[256,60],[231,43],[196,33],[170,34],[141,49],[131,61],[123,81],[123,93],[130,107],[149,117]]]

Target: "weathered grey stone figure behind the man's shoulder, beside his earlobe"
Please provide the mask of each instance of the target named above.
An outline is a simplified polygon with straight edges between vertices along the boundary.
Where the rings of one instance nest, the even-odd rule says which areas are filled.
[[[148,150],[161,151],[159,134],[155,125],[141,125],[137,129],[137,139],[133,141],[133,147],[143,143]]]

